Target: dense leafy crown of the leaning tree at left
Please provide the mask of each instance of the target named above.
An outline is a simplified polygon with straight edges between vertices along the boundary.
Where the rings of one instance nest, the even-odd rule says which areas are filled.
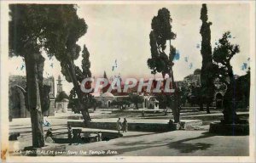
[[[44,47],[49,56],[61,63],[78,59],[81,48],[76,42],[86,33],[87,25],[77,9],[72,4],[49,5],[47,15],[45,29],[51,32],[45,34]]]

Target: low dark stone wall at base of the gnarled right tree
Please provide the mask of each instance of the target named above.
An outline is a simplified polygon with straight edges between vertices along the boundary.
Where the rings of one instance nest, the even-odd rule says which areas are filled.
[[[221,122],[212,122],[209,132],[220,135],[249,135],[249,124],[224,124]]]

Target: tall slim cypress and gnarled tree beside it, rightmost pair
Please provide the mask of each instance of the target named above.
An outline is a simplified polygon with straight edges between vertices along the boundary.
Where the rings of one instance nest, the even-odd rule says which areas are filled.
[[[213,94],[215,91],[214,80],[219,79],[220,82],[227,86],[227,91],[224,94],[224,123],[238,123],[239,118],[236,115],[236,104],[241,97],[246,97],[248,104],[248,93],[250,90],[250,71],[247,75],[241,76],[238,80],[235,79],[233,68],[230,65],[230,60],[240,52],[240,48],[236,44],[230,42],[230,31],[224,32],[219,38],[217,47],[212,50],[211,47],[211,22],[207,22],[207,4],[202,4],[201,8],[201,101],[207,103],[207,113],[210,113],[209,104],[212,103]],[[236,82],[241,82],[244,91],[238,92]],[[238,94],[239,93],[239,94]],[[202,102],[201,102],[202,104]],[[201,106],[202,107],[202,106]]]

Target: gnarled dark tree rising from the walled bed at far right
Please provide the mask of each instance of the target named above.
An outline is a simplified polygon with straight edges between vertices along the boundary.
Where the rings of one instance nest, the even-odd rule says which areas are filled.
[[[218,40],[218,45],[214,48],[212,59],[217,69],[218,79],[227,85],[227,91],[224,94],[224,123],[233,124],[239,123],[240,120],[236,115],[236,104],[239,99],[246,97],[246,104],[248,104],[250,92],[250,70],[247,75],[235,78],[233,68],[230,65],[230,60],[240,52],[240,48],[236,44],[230,43],[230,31],[223,34]],[[236,82],[241,85],[236,85]],[[239,91],[240,90],[240,91]]]

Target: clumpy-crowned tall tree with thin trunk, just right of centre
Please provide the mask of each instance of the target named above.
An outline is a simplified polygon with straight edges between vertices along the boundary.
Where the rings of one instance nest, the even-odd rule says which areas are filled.
[[[174,82],[172,66],[173,59],[176,54],[176,48],[172,47],[171,40],[176,38],[176,34],[172,32],[172,18],[170,11],[167,8],[161,8],[158,11],[157,16],[154,16],[151,23],[152,31],[149,34],[150,38],[150,51],[151,59],[148,59],[148,68],[151,70],[151,74],[161,73],[163,78],[166,74],[172,79],[172,87],[176,90],[176,84]],[[169,41],[170,52],[169,56],[166,54],[166,42]],[[173,107],[172,113],[175,122],[179,122],[179,107],[178,107],[178,93],[174,95],[163,95],[167,100],[171,100],[170,103]],[[165,105],[165,101],[161,101],[160,104]]]

